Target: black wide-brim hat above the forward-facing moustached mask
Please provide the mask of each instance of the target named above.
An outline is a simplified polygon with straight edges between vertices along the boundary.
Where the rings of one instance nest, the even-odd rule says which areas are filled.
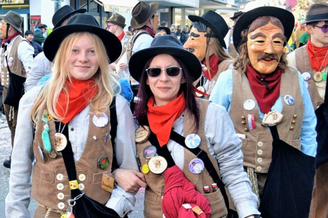
[[[238,51],[239,46],[242,40],[241,32],[243,30],[248,29],[254,20],[263,16],[277,17],[283,26],[284,35],[286,36],[286,42],[289,40],[289,38],[293,33],[294,24],[295,24],[295,18],[291,12],[282,8],[271,7],[271,6],[255,8],[241,15],[241,17],[239,17],[239,19],[235,24],[232,36],[233,36],[234,46],[238,53],[239,53]]]

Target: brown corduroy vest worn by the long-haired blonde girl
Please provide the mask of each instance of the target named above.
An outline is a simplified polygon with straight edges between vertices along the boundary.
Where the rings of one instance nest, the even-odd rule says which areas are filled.
[[[90,107],[91,110],[91,107]],[[33,182],[32,182],[32,197],[49,208],[56,210],[67,210],[66,202],[70,199],[71,191],[69,187],[69,180],[64,164],[64,159],[58,154],[57,158],[52,159],[45,151],[42,141],[42,131],[45,123],[41,120],[42,113],[38,115],[38,121],[36,123],[35,138],[33,142],[33,151],[36,158],[36,163],[33,169]],[[81,190],[90,198],[94,199],[101,204],[106,204],[111,196],[111,193],[101,188],[101,179],[103,173],[109,173],[112,167],[113,148],[110,137],[105,140],[106,134],[110,133],[110,122],[105,127],[97,127],[93,124],[93,111],[90,111],[89,118],[89,132],[86,145],[82,156],[75,162],[76,177],[79,184],[84,185],[84,189]],[[106,115],[110,117],[109,110]],[[55,123],[53,120],[49,121],[49,136],[52,147],[54,147],[54,134]],[[71,129],[69,129],[71,131]],[[96,136],[96,140],[93,139]],[[39,155],[38,146],[40,146],[44,152],[44,162]],[[106,155],[109,159],[109,166],[106,169],[99,169],[97,167],[98,159]],[[58,177],[61,174],[63,179]],[[82,176],[82,177],[81,177]],[[59,178],[59,179],[58,179]],[[59,185],[58,185],[59,184]],[[64,189],[60,190],[64,185]],[[58,199],[58,195],[65,196],[64,199]],[[65,208],[59,208],[58,204],[65,204]]]

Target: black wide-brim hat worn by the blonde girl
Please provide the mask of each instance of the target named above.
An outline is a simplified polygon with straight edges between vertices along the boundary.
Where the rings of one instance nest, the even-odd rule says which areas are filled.
[[[100,28],[93,16],[76,14],[68,21],[67,25],[58,27],[46,38],[43,51],[48,60],[53,61],[60,47],[60,43],[68,35],[78,32],[88,32],[97,35],[105,45],[110,62],[114,62],[120,56],[122,45],[113,33]]]

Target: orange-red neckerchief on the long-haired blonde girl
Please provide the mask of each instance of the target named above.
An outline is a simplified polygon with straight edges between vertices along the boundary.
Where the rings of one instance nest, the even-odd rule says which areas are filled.
[[[68,123],[78,113],[83,111],[98,92],[98,86],[95,85],[93,79],[81,81],[71,78],[71,80],[72,83],[68,79],[66,80],[69,100],[68,105],[66,105],[67,95],[63,91],[60,92],[56,105],[58,115],[64,117],[64,119],[61,120],[63,123]],[[66,108],[68,108],[68,110],[65,114]]]

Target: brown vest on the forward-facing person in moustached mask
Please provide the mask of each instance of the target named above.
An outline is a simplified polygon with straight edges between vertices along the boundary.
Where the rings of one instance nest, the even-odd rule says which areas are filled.
[[[257,103],[251,111],[247,111],[243,107],[243,103],[248,99],[253,99],[256,102],[248,78],[244,73],[240,73],[235,69],[233,69],[232,73],[233,92],[229,115],[235,125],[236,132],[246,135],[246,139],[242,139],[241,147],[244,155],[243,165],[255,168],[258,173],[267,173],[272,157],[273,139],[271,132],[261,125]],[[300,149],[300,131],[304,108],[298,81],[297,70],[291,67],[286,68],[281,76],[280,84],[280,95],[283,104],[281,114],[283,119],[277,124],[277,128],[281,140]],[[283,100],[285,95],[293,96],[295,103],[293,105],[286,104]],[[247,118],[249,114],[255,115],[255,129],[251,129],[248,125]],[[294,115],[297,116],[294,118],[295,124],[292,123]],[[245,124],[242,124],[242,116],[246,118]]]

